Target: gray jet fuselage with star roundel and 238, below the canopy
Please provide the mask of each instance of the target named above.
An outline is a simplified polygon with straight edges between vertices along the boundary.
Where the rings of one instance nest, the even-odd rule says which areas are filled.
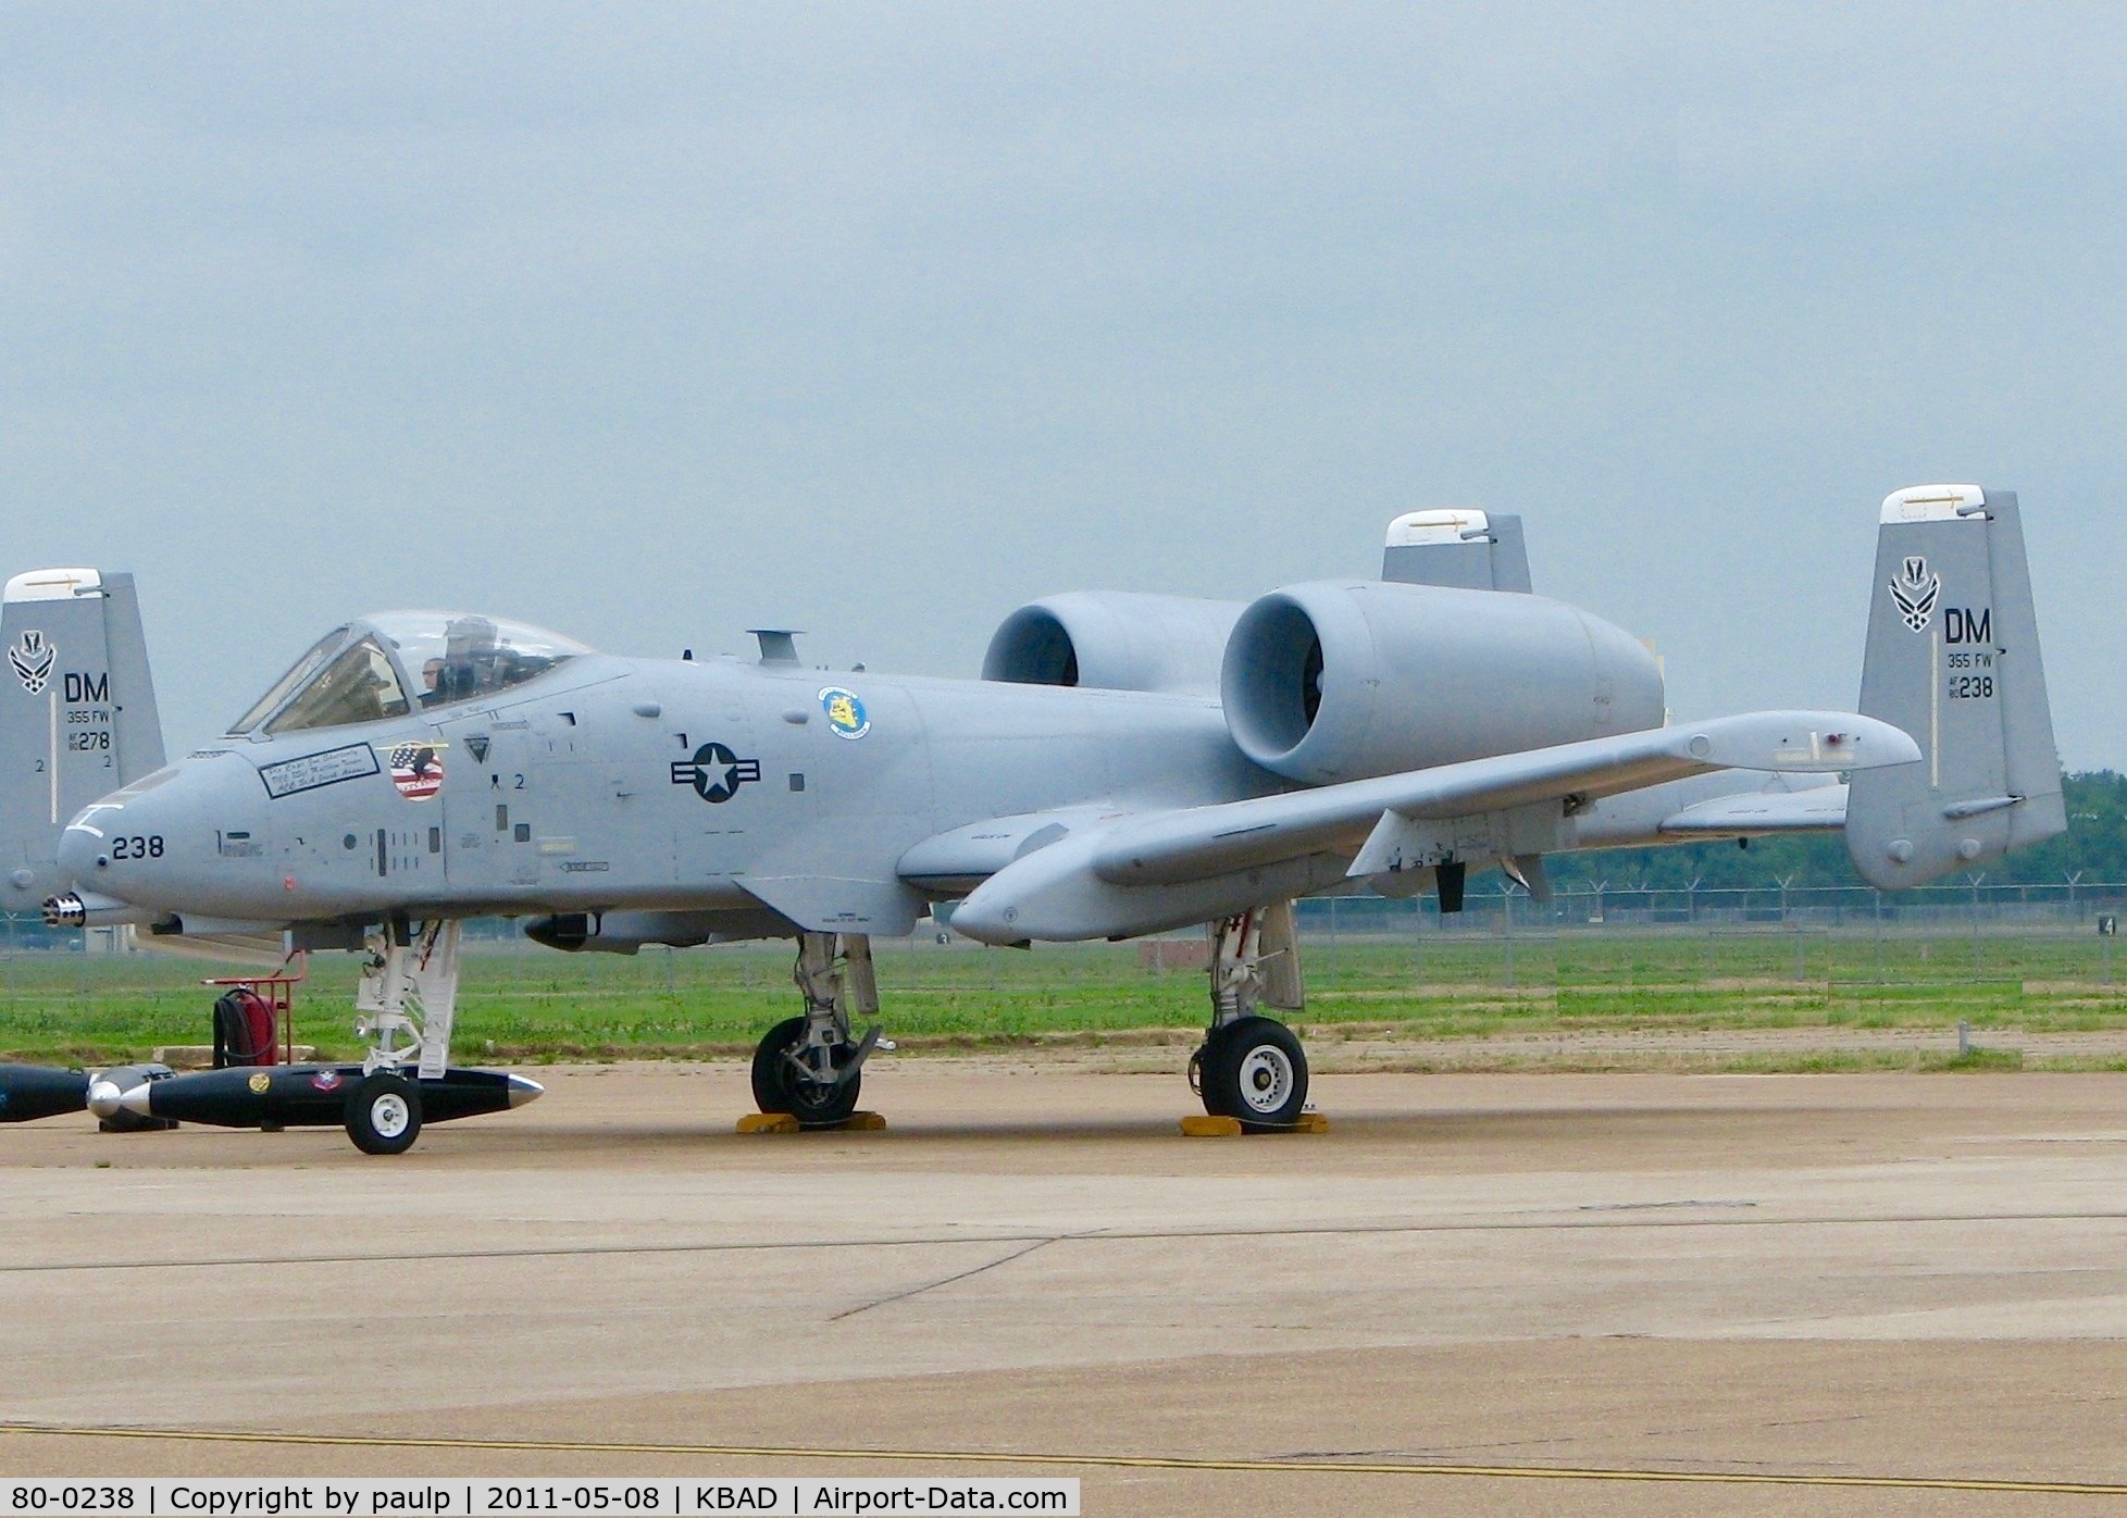
[[[83,812],[62,867],[191,925],[781,912],[906,933],[927,904],[902,855],[966,823],[1283,785],[1204,695],[568,653],[455,704],[223,738]]]

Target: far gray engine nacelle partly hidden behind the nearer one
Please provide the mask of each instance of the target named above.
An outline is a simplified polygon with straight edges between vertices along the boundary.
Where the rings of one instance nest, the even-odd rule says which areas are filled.
[[[1240,610],[1240,602],[1189,595],[1049,595],[1004,619],[983,655],[983,678],[1217,695],[1225,640]]]

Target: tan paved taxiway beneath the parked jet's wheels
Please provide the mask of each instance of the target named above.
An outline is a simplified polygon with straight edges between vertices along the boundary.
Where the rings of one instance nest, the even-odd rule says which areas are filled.
[[[402,1159],[0,1129],[4,1473],[1076,1473],[1087,1514],[2127,1503],[2127,1076],[532,1072]]]

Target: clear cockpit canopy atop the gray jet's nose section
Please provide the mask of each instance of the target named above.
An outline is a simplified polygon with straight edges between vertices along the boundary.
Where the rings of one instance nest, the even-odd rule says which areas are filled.
[[[545,627],[464,612],[381,612],[311,644],[230,733],[298,733],[489,697],[591,653]]]

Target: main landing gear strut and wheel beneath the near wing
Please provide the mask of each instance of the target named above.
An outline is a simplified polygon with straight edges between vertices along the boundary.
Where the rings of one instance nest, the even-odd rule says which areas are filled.
[[[1204,1046],[1189,1057],[1189,1086],[1204,1112],[1236,1118],[1244,1133],[1300,1127],[1308,1106],[1308,1057],[1261,1006],[1306,1006],[1291,901],[1210,925],[1212,1014]]]

